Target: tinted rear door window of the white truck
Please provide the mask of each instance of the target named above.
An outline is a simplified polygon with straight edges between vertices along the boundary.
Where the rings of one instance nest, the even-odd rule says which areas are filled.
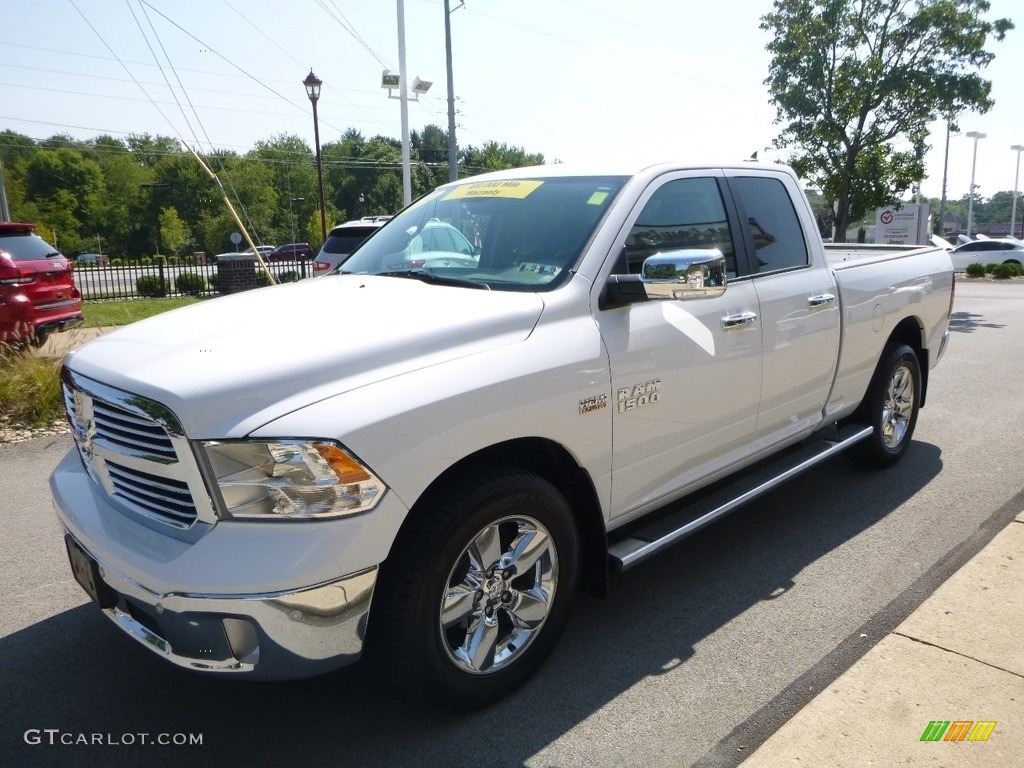
[[[807,266],[807,242],[785,185],[777,178],[730,179],[746,211],[760,271]]]

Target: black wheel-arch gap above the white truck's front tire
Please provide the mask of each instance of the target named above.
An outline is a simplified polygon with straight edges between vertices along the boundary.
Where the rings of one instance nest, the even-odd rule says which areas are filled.
[[[581,545],[581,587],[597,597],[608,589],[608,543],[604,514],[590,474],[561,444],[544,437],[519,437],[481,449],[453,464],[416,500],[398,531],[461,478],[487,467],[514,466],[551,482],[568,501]]]

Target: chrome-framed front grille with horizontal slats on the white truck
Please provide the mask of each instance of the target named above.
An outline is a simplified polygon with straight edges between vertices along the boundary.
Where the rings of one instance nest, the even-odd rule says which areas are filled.
[[[195,532],[213,514],[188,440],[159,402],[61,373],[63,402],[89,476],[127,514]],[[202,500],[202,510],[197,503]]]

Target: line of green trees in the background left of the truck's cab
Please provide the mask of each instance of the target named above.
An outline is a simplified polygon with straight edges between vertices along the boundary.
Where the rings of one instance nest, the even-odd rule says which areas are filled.
[[[428,125],[413,131],[410,141],[413,195],[419,197],[447,181],[447,134]],[[97,234],[103,250],[122,260],[156,253],[158,242],[168,256],[236,250],[229,236],[240,231],[239,224],[213,180],[175,138],[78,140],[58,134],[36,140],[4,130],[0,160],[12,217],[36,222],[39,233],[65,253],[95,250]],[[215,152],[205,160],[257,242],[304,241],[313,249],[323,244],[315,157],[304,139],[281,134],[245,155]],[[460,154],[463,176],[543,161],[496,142]],[[366,138],[348,129],[323,145],[323,167],[328,229],[401,209],[397,139]]]

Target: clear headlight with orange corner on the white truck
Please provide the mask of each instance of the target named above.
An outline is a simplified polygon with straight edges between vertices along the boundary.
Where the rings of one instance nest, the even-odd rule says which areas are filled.
[[[224,505],[221,517],[321,518],[376,506],[386,486],[331,440],[203,442]]]

